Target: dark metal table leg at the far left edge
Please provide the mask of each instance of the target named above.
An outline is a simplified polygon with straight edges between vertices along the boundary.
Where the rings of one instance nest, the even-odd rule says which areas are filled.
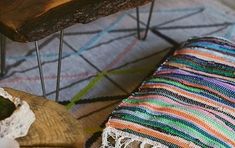
[[[5,75],[6,65],[6,37],[0,34],[0,49],[1,49],[1,77]]]

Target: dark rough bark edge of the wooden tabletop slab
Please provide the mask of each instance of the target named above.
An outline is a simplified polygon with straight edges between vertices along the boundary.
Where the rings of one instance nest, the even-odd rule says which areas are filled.
[[[51,9],[44,15],[25,22],[17,32],[3,27],[0,31],[13,41],[33,42],[76,23],[86,24],[100,17],[135,8],[152,0],[81,0]],[[50,20],[50,21],[48,21]]]

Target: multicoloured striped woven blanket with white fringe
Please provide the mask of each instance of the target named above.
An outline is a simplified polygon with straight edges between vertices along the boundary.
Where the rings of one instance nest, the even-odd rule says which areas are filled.
[[[235,44],[190,39],[111,114],[102,147],[235,147]]]

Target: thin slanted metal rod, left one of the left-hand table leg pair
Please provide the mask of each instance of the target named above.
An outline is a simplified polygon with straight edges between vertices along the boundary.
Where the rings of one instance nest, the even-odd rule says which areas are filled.
[[[38,69],[39,69],[39,74],[40,74],[40,79],[41,79],[42,94],[43,94],[43,97],[46,97],[46,89],[45,89],[44,76],[43,76],[43,70],[42,70],[42,62],[41,62],[41,56],[40,56],[40,51],[39,51],[37,41],[35,41],[35,49],[36,49]]]

